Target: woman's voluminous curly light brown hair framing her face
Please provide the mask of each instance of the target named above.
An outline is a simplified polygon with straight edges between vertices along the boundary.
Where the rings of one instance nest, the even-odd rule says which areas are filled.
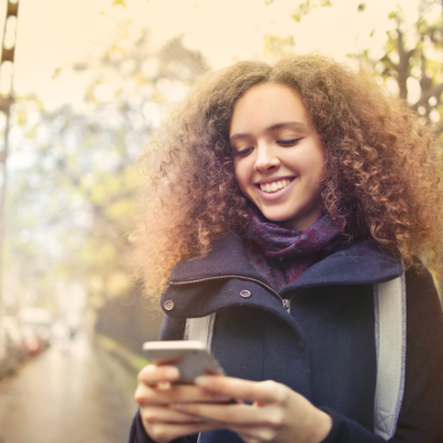
[[[323,207],[343,235],[375,239],[403,259],[437,262],[442,188],[432,130],[368,73],[318,54],[275,65],[239,62],[203,76],[162,124],[141,158],[148,176],[132,236],[146,293],[167,285],[178,261],[203,257],[212,243],[249,220],[234,172],[234,106],[257,84],[292,89],[324,147]]]

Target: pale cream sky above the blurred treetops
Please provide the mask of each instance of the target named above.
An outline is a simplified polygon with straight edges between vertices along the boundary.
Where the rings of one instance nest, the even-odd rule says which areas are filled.
[[[388,13],[394,0],[332,0],[296,23],[291,11],[298,0],[19,0],[19,27],[14,65],[18,93],[35,92],[44,102],[81,100],[84,85],[79,76],[52,79],[55,69],[100,53],[112,39],[119,22],[132,20],[135,28],[151,30],[152,45],[183,34],[184,43],[197,49],[213,69],[236,60],[260,55],[266,34],[293,35],[296,51],[313,50],[346,60],[346,54],[372,48],[381,54],[385,31],[394,23]],[[402,1],[406,16],[416,14],[418,0]],[[0,0],[0,25],[6,0]],[[372,30],[375,30],[370,38]]]

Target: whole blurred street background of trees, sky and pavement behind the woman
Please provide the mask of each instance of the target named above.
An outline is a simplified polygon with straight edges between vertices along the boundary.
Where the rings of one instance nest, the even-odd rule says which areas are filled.
[[[136,159],[196,78],[320,51],[442,144],[442,0],[0,0],[0,443],[126,441],[162,320],[131,276]]]

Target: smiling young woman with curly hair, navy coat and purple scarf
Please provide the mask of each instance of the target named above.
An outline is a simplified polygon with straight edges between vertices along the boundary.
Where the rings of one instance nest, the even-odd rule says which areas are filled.
[[[442,192],[431,130],[369,75],[320,55],[202,79],[145,154],[134,236],[161,339],[216,312],[228,377],[138,375],[130,441],[383,442],[373,286],[405,270],[404,389],[392,442],[442,442]],[[395,380],[394,380],[395,381]],[[227,400],[236,399],[229,403]]]

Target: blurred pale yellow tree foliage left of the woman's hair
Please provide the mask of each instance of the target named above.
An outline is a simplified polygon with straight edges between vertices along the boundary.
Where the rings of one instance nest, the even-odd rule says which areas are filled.
[[[93,311],[133,284],[126,237],[138,153],[208,65],[182,38],[152,51],[148,31],[134,39],[126,24],[102,56],[72,69],[89,79],[80,104],[16,103],[6,275],[16,301],[53,306],[80,285]]]

